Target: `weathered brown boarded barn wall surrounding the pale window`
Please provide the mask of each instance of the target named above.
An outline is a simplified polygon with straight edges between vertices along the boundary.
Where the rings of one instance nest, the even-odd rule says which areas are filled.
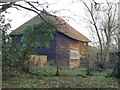
[[[70,50],[79,51],[81,56],[82,54],[87,53],[87,48],[88,48],[88,43],[84,45],[83,42],[74,40],[62,33],[57,33],[56,59],[59,60],[62,63],[62,65],[67,65],[69,67],[79,67],[80,59],[76,59],[76,60],[70,59]]]

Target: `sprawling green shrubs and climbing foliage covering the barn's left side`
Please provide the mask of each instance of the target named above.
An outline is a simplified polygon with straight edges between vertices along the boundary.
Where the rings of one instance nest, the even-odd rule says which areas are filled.
[[[48,18],[46,20],[47,22],[41,21],[39,24],[27,26],[18,44],[7,34],[9,28],[6,26],[1,28],[4,36],[2,45],[3,72],[7,69],[29,73],[30,55],[35,53],[37,47],[49,48],[49,42],[56,33],[54,22]],[[12,37],[15,38],[16,36]]]

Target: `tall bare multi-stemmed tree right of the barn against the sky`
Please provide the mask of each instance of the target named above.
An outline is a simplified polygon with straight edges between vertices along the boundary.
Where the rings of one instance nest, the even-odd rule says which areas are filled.
[[[81,0],[89,14],[86,19],[97,34],[100,46],[100,63],[105,68],[105,62],[109,59],[111,37],[118,28],[117,3],[109,2],[97,3],[92,0],[90,4]]]

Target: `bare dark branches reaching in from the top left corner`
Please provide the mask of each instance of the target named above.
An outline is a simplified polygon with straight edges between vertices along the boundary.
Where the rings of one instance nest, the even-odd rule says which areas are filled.
[[[24,2],[26,5],[22,5],[19,2]],[[44,5],[47,4],[47,6],[44,8]],[[44,17],[41,15],[41,13],[46,13],[45,9],[48,8],[48,6],[51,5],[48,2],[44,2],[44,3],[40,3],[38,0],[36,1],[27,1],[27,0],[11,0],[11,2],[9,0],[0,0],[0,13],[2,12],[7,12],[7,9],[9,8],[15,8],[17,10],[25,9],[28,11],[32,11],[34,13],[36,13],[37,15],[40,16],[41,19],[43,19],[44,21],[47,22],[47,20],[44,19]],[[39,9],[39,8],[42,9]],[[51,14],[49,14],[51,15]],[[54,16],[54,15],[51,15]],[[55,17],[55,16],[54,16]],[[47,22],[48,24],[50,24],[49,22]]]

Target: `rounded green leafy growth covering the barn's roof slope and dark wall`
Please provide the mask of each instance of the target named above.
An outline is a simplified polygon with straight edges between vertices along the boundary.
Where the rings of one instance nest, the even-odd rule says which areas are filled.
[[[46,19],[39,24],[28,25],[24,31],[22,41],[26,47],[31,50],[40,46],[49,48],[50,40],[52,40],[56,33],[55,24],[52,20]],[[48,22],[50,24],[48,24]]]

